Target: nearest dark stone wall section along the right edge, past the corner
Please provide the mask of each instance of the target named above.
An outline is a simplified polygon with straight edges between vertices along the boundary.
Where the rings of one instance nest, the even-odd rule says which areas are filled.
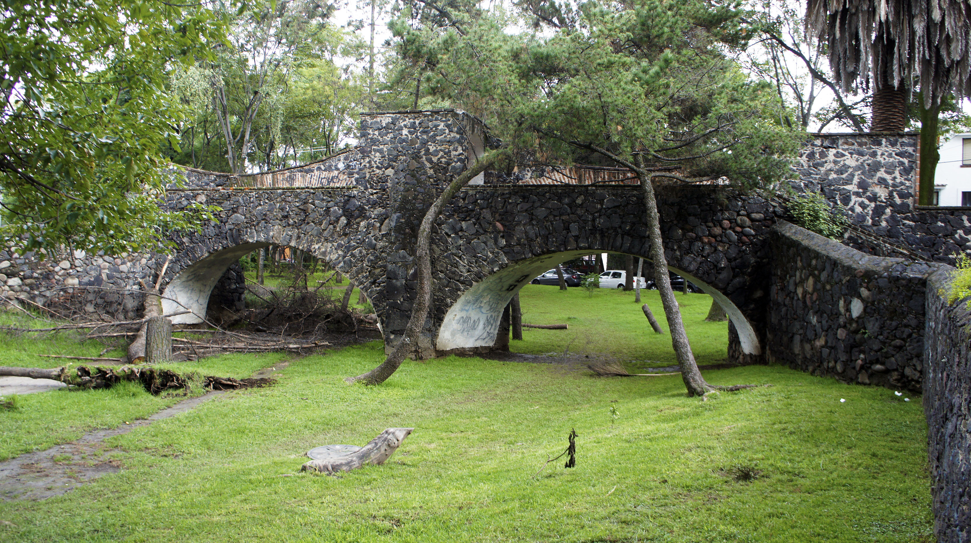
[[[923,410],[933,480],[934,532],[941,543],[971,541],[971,311],[949,304],[950,266],[927,280]]]

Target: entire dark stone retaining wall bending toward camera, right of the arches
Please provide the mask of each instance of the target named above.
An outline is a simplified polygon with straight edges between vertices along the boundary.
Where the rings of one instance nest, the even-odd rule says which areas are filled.
[[[971,542],[971,310],[945,300],[954,268],[867,255],[785,221],[771,244],[769,360],[920,391],[937,540]]]

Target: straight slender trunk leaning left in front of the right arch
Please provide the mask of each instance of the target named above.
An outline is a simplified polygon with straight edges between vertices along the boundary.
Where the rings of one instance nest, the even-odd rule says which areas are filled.
[[[681,369],[682,379],[685,380],[687,396],[704,396],[714,390],[725,390],[728,387],[710,385],[705,382],[698,370],[698,364],[694,361],[694,353],[691,352],[691,345],[687,341],[685,333],[685,323],[681,318],[681,308],[674,297],[674,290],[671,288],[671,277],[668,276],[667,258],[664,256],[664,245],[661,239],[660,215],[657,213],[657,201],[654,197],[654,187],[651,183],[651,175],[643,170],[637,172],[641,178],[641,187],[644,190],[644,207],[647,210],[648,239],[651,240],[651,260],[654,267],[654,283],[657,285],[657,292],[661,295],[661,303],[664,305],[664,315],[667,317],[668,330],[671,332],[671,344],[674,346],[675,355],[678,358],[678,367]],[[687,284],[687,279],[685,279]],[[754,386],[754,385],[753,385]],[[731,387],[738,390],[738,385]]]

